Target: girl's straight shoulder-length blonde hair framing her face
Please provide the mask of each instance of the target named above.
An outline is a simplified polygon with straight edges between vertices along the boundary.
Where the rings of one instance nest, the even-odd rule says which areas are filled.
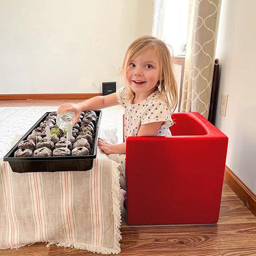
[[[134,92],[127,86],[126,73],[130,60],[148,49],[155,49],[160,62],[160,76],[156,90],[162,95],[168,108],[173,112],[178,102],[177,84],[172,67],[172,56],[166,44],[154,36],[142,36],[135,39],[128,47],[122,63],[122,79],[126,85],[126,100],[134,98]]]

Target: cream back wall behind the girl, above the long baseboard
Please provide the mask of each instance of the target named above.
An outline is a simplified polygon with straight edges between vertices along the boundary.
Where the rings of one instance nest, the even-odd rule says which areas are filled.
[[[121,87],[124,52],[152,20],[153,0],[1,0],[0,94]]]

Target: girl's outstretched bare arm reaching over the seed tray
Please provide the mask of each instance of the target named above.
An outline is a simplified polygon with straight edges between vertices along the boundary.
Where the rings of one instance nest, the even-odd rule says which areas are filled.
[[[105,96],[96,96],[84,100],[84,102],[76,103],[64,103],[58,107],[58,113],[65,111],[74,112],[74,122],[78,122],[81,111],[84,110],[99,110],[108,106],[118,105],[116,93]]]

